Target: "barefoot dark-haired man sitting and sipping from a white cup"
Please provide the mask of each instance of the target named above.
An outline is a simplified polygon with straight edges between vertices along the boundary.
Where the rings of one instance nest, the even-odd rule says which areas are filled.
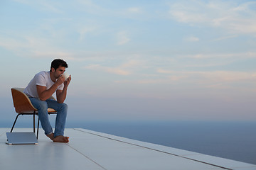
[[[62,75],[66,68],[68,68],[68,64],[64,60],[53,60],[50,72],[43,71],[36,74],[24,90],[33,106],[38,109],[38,117],[45,134],[53,142],[69,142],[69,137],[64,136],[68,105],[63,102],[67,96],[68,85],[71,81],[71,77],[65,79],[64,75]],[[57,101],[50,99],[50,96],[55,92]],[[48,118],[48,108],[53,108],[58,112],[54,133]]]

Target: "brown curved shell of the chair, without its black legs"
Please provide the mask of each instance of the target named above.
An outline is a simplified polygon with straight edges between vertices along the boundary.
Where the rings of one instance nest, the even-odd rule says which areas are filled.
[[[11,88],[16,113],[33,113],[34,111],[37,111],[37,109],[33,107],[28,96],[26,96],[23,91],[24,88]],[[50,96],[50,99],[55,100],[53,96]]]

